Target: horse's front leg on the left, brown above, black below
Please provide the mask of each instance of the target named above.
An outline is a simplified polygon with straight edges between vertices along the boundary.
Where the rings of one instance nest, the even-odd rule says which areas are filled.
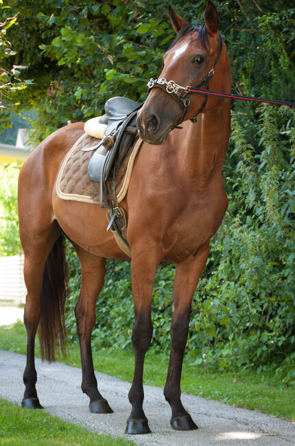
[[[132,386],[128,394],[132,410],[127,421],[126,434],[150,432],[143,412],[143,362],[152,340],[151,303],[156,266],[157,263],[153,259],[142,253],[136,255],[132,251],[131,275],[135,315],[132,345],[135,363]]]

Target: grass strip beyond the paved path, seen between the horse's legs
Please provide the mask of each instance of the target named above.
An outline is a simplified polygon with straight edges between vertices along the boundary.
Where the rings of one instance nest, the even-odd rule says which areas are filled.
[[[0,348],[25,354],[26,334],[23,323],[18,322],[0,327]],[[80,367],[80,353],[77,344],[69,344],[65,362]],[[38,342],[36,356],[40,357]],[[131,382],[133,376],[132,351],[93,352],[95,370],[108,373]],[[191,366],[190,358],[185,357],[181,388],[182,392],[215,399],[233,406],[260,410],[272,416],[295,421],[295,387],[287,386],[281,379],[270,373],[239,371],[237,373],[217,373],[204,371],[201,366]],[[123,364],[123,366],[122,366]],[[168,357],[164,354],[147,352],[144,382],[163,387],[167,374]]]

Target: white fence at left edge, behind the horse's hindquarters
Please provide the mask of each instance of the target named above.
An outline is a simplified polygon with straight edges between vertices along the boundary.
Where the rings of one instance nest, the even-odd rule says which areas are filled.
[[[0,301],[25,303],[23,255],[0,257]]]

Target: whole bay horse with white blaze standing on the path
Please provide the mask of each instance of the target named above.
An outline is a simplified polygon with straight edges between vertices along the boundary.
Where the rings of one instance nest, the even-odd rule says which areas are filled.
[[[219,17],[211,1],[204,24],[190,25],[172,8],[176,40],[164,55],[158,80],[138,113],[143,140],[121,207],[128,219],[134,298],[134,377],[128,394],[132,411],[128,434],[150,432],[143,412],[143,362],[152,339],[151,302],[156,268],[175,264],[171,353],[164,395],[172,409],[172,427],[197,426],[182,406],[180,375],[187,342],[191,301],[207,263],[209,242],[228,206],[222,166],[230,132],[230,99],[185,93],[183,86],[204,85],[230,93],[231,72]],[[214,74],[214,75],[213,75]],[[82,361],[82,391],[91,412],[112,412],[97,389],[91,352],[95,302],[102,290],[106,258],[128,260],[106,232],[106,209],[62,200],[55,191],[60,165],[84,124],[70,124],[45,139],[25,161],[19,176],[19,226],[27,286],[25,327],[27,364],[22,406],[41,408],[36,392],[34,340],[37,327],[43,357],[54,360],[64,349],[64,252],[62,235],[80,260],[82,284],[75,307]]]

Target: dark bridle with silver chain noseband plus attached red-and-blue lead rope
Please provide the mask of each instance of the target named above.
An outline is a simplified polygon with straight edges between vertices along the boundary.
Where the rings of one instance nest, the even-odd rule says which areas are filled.
[[[218,60],[218,58],[220,56],[221,51],[222,51],[222,37],[219,36],[217,55],[215,57],[215,60],[214,60],[213,65],[211,67],[211,70],[204,77],[204,79],[201,80],[195,86],[190,86],[190,85],[182,86],[182,85],[178,85],[178,84],[176,84],[176,82],[174,82],[174,80],[168,80],[167,81],[165,78],[158,78],[158,79],[151,78],[149,80],[149,82],[147,82],[147,88],[148,88],[147,95],[155,87],[160,88],[160,89],[166,91],[167,93],[169,93],[169,95],[171,95],[176,100],[178,105],[182,108],[182,116],[180,117],[180,120],[178,121],[176,126],[181,124],[182,121],[185,119],[185,114],[187,113],[187,109],[189,108],[189,105],[191,104],[190,100],[188,99],[188,96],[190,94],[202,94],[202,95],[205,95],[204,101],[202,103],[202,106],[198,110],[198,113],[194,117],[190,118],[191,121],[193,121],[193,122],[196,122],[198,115],[200,115],[200,113],[202,113],[202,111],[204,110],[204,108],[205,108],[205,106],[207,104],[208,96],[210,96],[210,95],[211,96],[228,97],[229,99],[239,99],[239,100],[243,100],[243,101],[266,102],[266,104],[278,104],[278,105],[295,106],[295,102],[277,101],[275,99],[262,99],[261,97],[242,96],[242,95],[235,95],[233,93],[222,93],[220,91],[211,91],[211,90],[209,90],[209,80],[215,74],[215,71],[214,71],[215,64],[217,63],[217,60]],[[200,89],[200,87],[202,85],[205,85],[206,89],[204,89],[204,90]]]

